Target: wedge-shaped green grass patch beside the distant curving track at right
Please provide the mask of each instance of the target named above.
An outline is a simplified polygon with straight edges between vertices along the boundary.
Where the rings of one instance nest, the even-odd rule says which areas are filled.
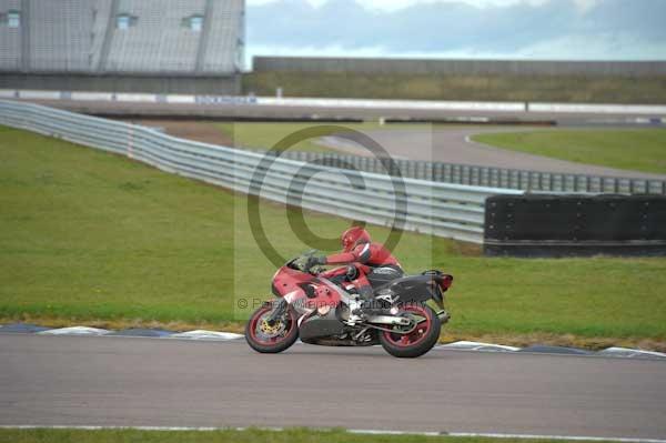
[[[576,163],[666,174],[666,129],[505,132],[473,140]]]

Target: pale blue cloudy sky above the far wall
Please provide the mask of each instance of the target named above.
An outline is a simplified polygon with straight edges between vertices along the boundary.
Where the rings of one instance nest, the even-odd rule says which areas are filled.
[[[248,0],[246,42],[248,60],[666,60],[666,0]]]

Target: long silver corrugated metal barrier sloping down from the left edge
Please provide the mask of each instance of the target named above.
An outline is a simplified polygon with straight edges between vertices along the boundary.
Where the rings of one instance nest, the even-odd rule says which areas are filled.
[[[0,124],[127,155],[163,171],[304,209],[380,225],[393,225],[397,215],[404,219],[397,228],[474,243],[483,242],[486,198],[522,194],[415,179],[404,179],[403,191],[396,191],[394,179],[386,174],[282,158],[266,165],[262,153],[182,140],[143,127],[17,101],[0,100]],[[253,182],[258,171],[263,175],[261,188]],[[396,208],[403,213],[396,214]]]

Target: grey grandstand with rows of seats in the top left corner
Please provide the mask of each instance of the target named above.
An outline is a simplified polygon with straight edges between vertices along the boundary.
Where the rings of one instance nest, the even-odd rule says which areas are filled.
[[[243,22],[243,0],[0,0],[0,87],[238,93]]]

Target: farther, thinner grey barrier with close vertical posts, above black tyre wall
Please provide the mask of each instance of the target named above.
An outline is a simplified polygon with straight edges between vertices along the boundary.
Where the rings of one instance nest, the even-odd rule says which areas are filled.
[[[300,161],[321,161],[334,168],[385,173],[379,159],[321,152],[287,151],[285,158]],[[403,177],[434,182],[473,187],[517,189],[537,192],[581,192],[666,195],[666,181],[618,177],[565,174],[523,171],[517,169],[474,167],[423,160],[394,160]]]

